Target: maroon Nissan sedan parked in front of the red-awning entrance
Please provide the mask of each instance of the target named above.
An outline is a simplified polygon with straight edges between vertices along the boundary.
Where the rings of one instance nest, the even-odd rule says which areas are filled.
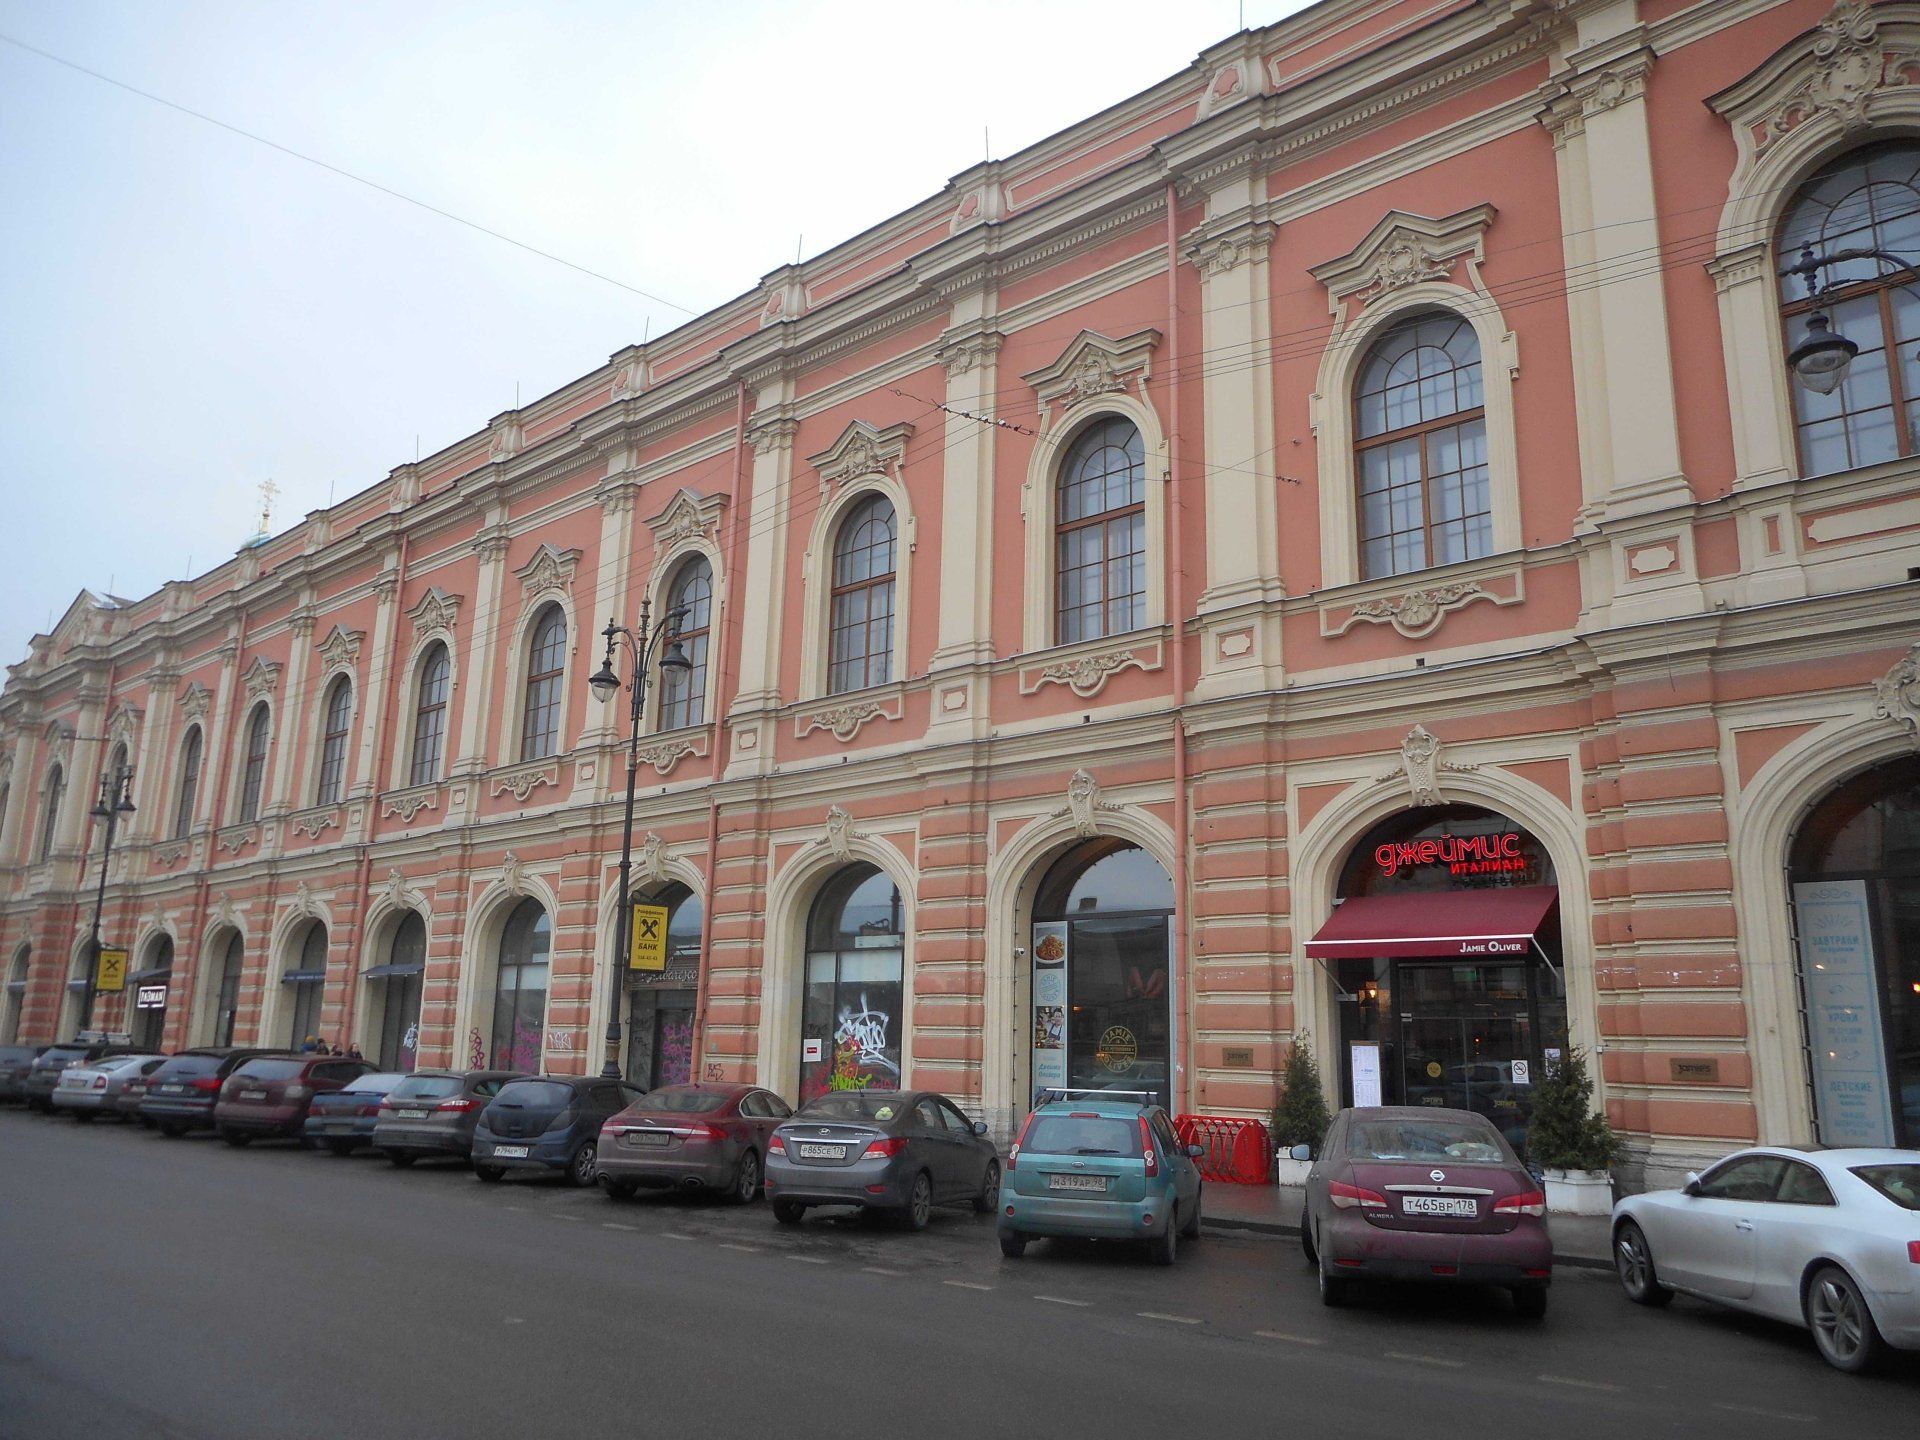
[[[1538,1319],[1553,1281],[1546,1210],[1540,1181],[1486,1116],[1356,1108],[1334,1116],[1308,1171],[1300,1244],[1329,1306],[1361,1279],[1498,1284]]]

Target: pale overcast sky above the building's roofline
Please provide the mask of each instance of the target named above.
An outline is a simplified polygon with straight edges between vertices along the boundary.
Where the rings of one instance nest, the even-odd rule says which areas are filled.
[[[1248,0],[1250,25],[1300,0]],[[1231,35],[1238,0],[0,0],[0,662]],[[804,242],[801,240],[804,236]]]

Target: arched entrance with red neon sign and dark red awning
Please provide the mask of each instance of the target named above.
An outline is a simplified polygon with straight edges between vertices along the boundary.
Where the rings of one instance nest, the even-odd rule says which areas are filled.
[[[1342,1104],[1473,1110],[1524,1146],[1567,1046],[1559,889],[1534,835],[1476,804],[1388,816],[1308,956],[1338,1006]]]

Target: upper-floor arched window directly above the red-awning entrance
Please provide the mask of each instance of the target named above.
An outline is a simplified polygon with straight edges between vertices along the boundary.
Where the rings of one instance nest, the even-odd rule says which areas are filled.
[[[1380,336],[1354,388],[1363,580],[1494,549],[1480,340],[1459,315]]]

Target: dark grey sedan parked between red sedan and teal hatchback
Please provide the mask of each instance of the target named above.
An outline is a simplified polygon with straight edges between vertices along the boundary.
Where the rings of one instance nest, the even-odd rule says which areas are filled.
[[[987,1127],[943,1094],[829,1091],[766,1142],[766,1192],[781,1225],[797,1225],[810,1206],[860,1206],[920,1231],[933,1206],[991,1212],[1000,1156]]]

